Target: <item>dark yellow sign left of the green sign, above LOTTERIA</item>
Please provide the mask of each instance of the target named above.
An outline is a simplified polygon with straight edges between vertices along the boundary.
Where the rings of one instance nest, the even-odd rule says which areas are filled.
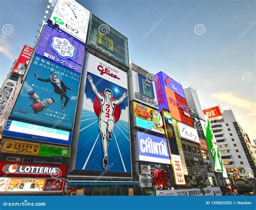
[[[15,141],[5,141],[1,151],[13,154],[38,156],[39,148],[39,144],[26,144]]]

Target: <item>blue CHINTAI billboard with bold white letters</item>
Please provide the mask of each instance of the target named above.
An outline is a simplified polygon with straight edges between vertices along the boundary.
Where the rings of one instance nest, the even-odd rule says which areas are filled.
[[[139,160],[171,164],[168,143],[165,138],[137,132]]]

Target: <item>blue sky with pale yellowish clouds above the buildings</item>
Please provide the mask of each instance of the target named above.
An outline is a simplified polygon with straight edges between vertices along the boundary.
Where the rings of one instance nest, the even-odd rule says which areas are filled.
[[[0,1],[0,84],[23,45],[35,45],[54,2]],[[77,2],[128,38],[130,60],[152,73],[165,72],[183,88],[193,86],[203,108],[232,109],[256,139],[256,1]]]

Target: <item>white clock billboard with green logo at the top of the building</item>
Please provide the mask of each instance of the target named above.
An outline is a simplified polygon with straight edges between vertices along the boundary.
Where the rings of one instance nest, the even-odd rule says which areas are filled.
[[[85,43],[90,12],[73,0],[58,0],[50,20],[59,29]]]

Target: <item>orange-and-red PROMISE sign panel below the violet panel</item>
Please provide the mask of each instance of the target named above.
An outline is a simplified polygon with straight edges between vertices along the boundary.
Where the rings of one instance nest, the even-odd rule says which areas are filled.
[[[180,95],[175,93],[173,90],[167,87],[164,87],[164,88],[165,88],[168,108],[171,112],[172,118],[193,127],[193,122],[190,115],[190,110],[188,109],[188,106],[187,106],[186,99],[184,99],[184,97],[181,97]]]

